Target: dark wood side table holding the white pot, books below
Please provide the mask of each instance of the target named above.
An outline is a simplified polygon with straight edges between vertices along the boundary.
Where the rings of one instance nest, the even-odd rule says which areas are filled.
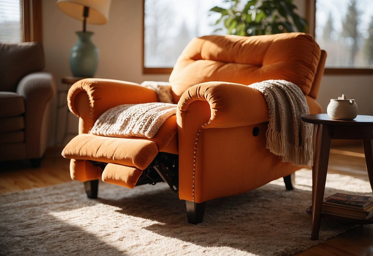
[[[302,120],[317,125],[315,156],[312,168],[312,206],[307,213],[312,216],[311,239],[319,239],[321,218],[344,223],[372,224],[367,220],[322,215],[330,141],[332,139],[363,140],[368,178],[373,191],[373,116],[358,115],[354,120],[335,120],[327,114],[303,115]]]

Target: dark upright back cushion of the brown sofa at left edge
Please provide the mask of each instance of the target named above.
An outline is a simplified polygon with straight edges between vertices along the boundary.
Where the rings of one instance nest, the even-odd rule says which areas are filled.
[[[0,91],[16,91],[25,75],[44,68],[40,43],[0,43]]]

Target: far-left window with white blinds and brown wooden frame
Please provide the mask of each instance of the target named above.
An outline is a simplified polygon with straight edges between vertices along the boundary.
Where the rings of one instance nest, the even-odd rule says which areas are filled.
[[[0,0],[0,42],[42,42],[41,0]]]

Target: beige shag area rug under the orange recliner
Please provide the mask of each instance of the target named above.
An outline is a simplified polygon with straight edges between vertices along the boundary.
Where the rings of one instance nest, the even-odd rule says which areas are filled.
[[[133,190],[99,184],[88,199],[81,182],[0,196],[0,255],[292,255],[354,225],[322,221],[310,240],[312,174],[282,179],[206,204],[202,224],[188,224],[185,203],[166,184]],[[328,174],[326,195],[371,195],[366,180]]]

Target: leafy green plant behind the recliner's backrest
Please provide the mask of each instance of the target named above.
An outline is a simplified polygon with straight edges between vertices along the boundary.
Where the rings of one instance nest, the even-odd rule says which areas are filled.
[[[232,35],[267,35],[283,32],[305,32],[307,21],[294,12],[297,7],[292,0],[250,0],[243,4],[240,0],[225,0],[230,7],[215,6],[210,12],[221,17],[214,25],[223,23]],[[215,31],[222,30],[217,28]]]

